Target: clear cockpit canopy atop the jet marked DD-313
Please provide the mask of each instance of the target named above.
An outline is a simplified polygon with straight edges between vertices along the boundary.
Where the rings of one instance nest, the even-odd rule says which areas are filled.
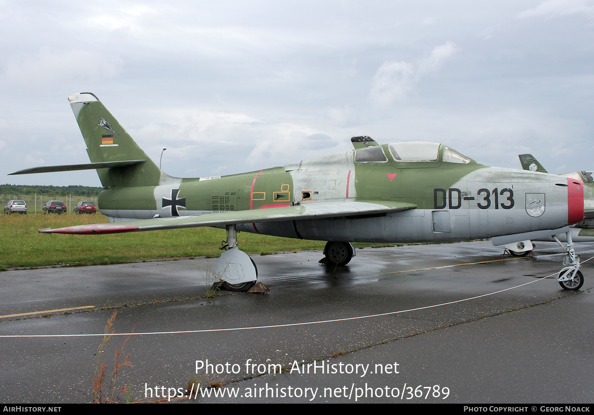
[[[393,142],[388,144],[390,155],[397,162],[430,162],[440,159],[440,147],[443,147],[441,160],[446,163],[470,163],[470,159],[456,150],[452,150],[437,142],[411,141]],[[384,163],[388,161],[382,147],[361,148],[355,153],[355,161],[358,163]]]

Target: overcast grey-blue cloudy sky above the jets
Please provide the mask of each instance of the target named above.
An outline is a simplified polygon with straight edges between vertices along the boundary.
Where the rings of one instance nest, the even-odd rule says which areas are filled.
[[[435,141],[592,169],[594,0],[0,0],[0,174],[87,163],[92,92],[173,176]],[[0,180],[1,181],[1,180]],[[100,186],[94,171],[2,183]]]

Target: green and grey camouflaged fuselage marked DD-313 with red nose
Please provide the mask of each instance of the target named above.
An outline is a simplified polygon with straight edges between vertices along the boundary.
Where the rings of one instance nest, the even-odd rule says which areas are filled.
[[[444,161],[444,145],[437,160],[397,161],[389,146],[375,147],[373,157],[358,157],[358,151],[369,150],[364,148],[220,178],[166,176],[158,186],[114,186],[100,194],[99,208],[119,221],[349,200],[417,206],[387,214],[237,225],[245,232],[349,242],[480,239],[557,229],[580,214],[568,198],[573,179],[469,159]]]

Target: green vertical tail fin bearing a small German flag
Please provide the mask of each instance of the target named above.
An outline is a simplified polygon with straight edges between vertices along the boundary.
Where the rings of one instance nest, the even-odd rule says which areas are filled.
[[[105,166],[113,163],[113,167],[97,169],[104,187],[158,185],[162,176],[166,176],[94,94],[72,94],[68,101],[87,144],[91,163]],[[131,160],[137,162],[131,163]],[[122,161],[126,163],[119,166],[115,163]]]

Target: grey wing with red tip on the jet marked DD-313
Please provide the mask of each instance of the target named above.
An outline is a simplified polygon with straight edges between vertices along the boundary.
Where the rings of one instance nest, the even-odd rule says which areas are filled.
[[[200,216],[181,216],[130,220],[118,223],[98,223],[68,226],[58,229],[40,229],[40,233],[67,233],[72,235],[101,235],[106,233],[140,232],[143,230],[179,229],[185,227],[222,226],[242,223],[261,223],[283,220],[305,220],[332,217],[368,216],[409,210],[416,205],[390,201],[311,202],[302,205],[208,213]]]

